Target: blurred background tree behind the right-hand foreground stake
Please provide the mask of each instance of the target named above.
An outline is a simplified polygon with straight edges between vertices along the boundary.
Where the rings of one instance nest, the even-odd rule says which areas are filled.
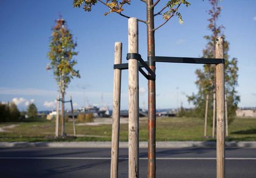
[[[204,36],[207,40],[207,45],[202,51],[203,58],[215,58],[215,38],[217,36],[225,35],[223,33],[224,26],[217,25],[217,20],[220,16],[221,7],[219,6],[219,0],[209,0],[212,5],[212,9],[208,11],[210,18],[208,19],[208,29],[211,31],[211,35]],[[240,97],[235,89],[238,85],[238,60],[232,58],[229,60],[228,55],[229,43],[225,39],[224,41],[224,58],[225,58],[225,94],[227,96],[228,105],[228,122],[231,123],[235,117],[235,111],[238,108],[238,102]],[[195,84],[198,87],[198,93],[192,94],[188,97],[189,102],[193,102],[195,105],[194,114],[201,118],[204,118],[206,94],[209,94],[209,100],[212,101],[213,93],[215,92],[215,65],[204,65],[203,69],[197,69],[195,71],[196,81]],[[213,103],[209,102],[209,115],[212,115]],[[212,117],[209,117],[212,119]],[[212,121],[210,122],[212,124]]]

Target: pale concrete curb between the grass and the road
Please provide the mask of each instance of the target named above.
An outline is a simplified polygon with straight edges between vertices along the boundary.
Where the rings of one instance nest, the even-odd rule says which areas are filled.
[[[147,148],[146,141],[140,142],[140,148]],[[110,141],[89,142],[0,142],[0,148],[111,148]],[[120,142],[120,148],[128,148],[128,142]],[[214,141],[157,141],[156,148],[216,148]],[[256,141],[228,141],[226,148],[256,148]]]

